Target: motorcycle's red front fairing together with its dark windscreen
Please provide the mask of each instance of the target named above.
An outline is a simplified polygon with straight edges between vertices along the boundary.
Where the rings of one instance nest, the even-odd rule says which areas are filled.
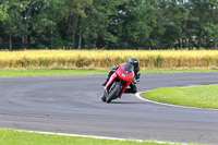
[[[116,73],[119,76],[119,78],[124,82],[131,83],[134,78],[133,65],[129,62],[121,64],[116,71]]]

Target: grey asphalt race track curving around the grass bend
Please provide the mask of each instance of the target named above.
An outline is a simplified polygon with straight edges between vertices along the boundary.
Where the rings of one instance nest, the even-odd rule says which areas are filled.
[[[218,110],[178,108],[126,94],[101,102],[106,75],[0,78],[0,128],[218,144]],[[138,92],[218,84],[218,73],[143,74]]]

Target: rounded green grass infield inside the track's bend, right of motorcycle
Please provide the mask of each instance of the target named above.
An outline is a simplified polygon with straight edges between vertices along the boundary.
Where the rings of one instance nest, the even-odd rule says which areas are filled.
[[[144,98],[179,106],[218,109],[218,85],[157,88]]]

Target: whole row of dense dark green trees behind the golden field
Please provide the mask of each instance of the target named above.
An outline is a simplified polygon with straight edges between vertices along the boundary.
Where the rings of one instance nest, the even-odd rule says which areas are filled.
[[[218,0],[0,0],[0,49],[217,49]]]

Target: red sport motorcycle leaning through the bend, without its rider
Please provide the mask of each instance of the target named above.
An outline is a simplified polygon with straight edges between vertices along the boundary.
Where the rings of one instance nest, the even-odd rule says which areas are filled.
[[[134,78],[134,67],[131,63],[121,64],[118,70],[110,76],[106,84],[102,101],[110,102],[112,99],[120,98],[126,87]]]

